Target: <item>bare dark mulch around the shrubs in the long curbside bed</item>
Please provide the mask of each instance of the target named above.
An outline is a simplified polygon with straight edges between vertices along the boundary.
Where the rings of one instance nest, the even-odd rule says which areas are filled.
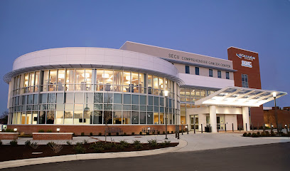
[[[92,142],[94,143],[94,142]],[[107,142],[109,143],[109,142]],[[89,148],[91,143],[84,144],[83,147],[86,148],[85,153],[96,153]],[[129,152],[129,151],[141,151],[141,150],[154,150],[164,147],[175,147],[178,145],[178,142],[170,143],[168,145],[157,145],[156,147],[151,147],[149,144],[142,144],[143,147],[141,149],[136,150],[134,145],[130,144],[129,147],[124,150],[116,150],[112,148],[110,150],[102,150],[100,153],[104,152]],[[63,149],[60,152],[55,153],[48,145],[39,145],[37,149],[33,149],[29,145],[0,145],[0,162],[9,161],[9,160],[20,160],[20,159],[28,159],[28,158],[37,158],[37,157],[51,157],[51,156],[59,156],[59,155],[75,155],[75,150],[73,149],[75,145],[63,145]],[[32,152],[43,152],[41,154],[32,154]]]

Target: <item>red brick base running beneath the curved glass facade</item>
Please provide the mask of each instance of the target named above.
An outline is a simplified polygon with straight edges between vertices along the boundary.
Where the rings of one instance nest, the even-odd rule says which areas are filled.
[[[17,128],[18,133],[32,134],[38,133],[38,130],[52,130],[56,133],[56,129],[60,128],[60,133],[75,133],[75,135],[80,135],[81,133],[85,133],[85,135],[98,135],[102,133],[104,135],[105,125],[8,125],[9,129]],[[159,130],[160,133],[165,131],[165,125],[109,125],[109,128],[121,128],[123,133],[127,133],[127,135],[131,135],[131,133],[135,133],[135,135],[139,135],[142,128],[155,128]],[[183,127],[184,128],[184,127]],[[175,131],[175,125],[168,125],[167,130],[169,133],[171,131]]]

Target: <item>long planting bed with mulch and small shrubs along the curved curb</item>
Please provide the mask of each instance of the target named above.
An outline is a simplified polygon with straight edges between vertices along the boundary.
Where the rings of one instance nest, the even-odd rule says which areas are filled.
[[[77,142],[77,145],[56,145],[49,142],[48,145],[37,145],[36,142],[26,145],[17,145],[14,141],[11,145],[0,145],[0,162],[8,160],[20,160],[36,157],[51,157],[59,155],[75,155],[84,153],[104,153],[104,152],[129,152],[141,150],[154,150],[164,147],[175,147],[178,142],[171,143],[164,141],[157,143],[156,140],[149,140],[149,143],[140,143],[135,140],[134,143],[126,141],[121,142]],[[33,149],[33,147],[36,149]],[[36,152],[36,154],[33,154]]]

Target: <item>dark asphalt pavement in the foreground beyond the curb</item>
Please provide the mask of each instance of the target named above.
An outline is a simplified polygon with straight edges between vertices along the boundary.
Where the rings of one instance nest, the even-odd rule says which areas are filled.
[[[144,157],[77,160],[4,170],[289,170],[290,142]]]

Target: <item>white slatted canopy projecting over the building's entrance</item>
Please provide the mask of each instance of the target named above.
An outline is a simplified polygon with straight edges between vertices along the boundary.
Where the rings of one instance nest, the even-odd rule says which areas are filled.
[[[195,105],[227,105],[259,107],[264,103],[286,95],[286,92],[254,88],[227,87],[195,101]]]

